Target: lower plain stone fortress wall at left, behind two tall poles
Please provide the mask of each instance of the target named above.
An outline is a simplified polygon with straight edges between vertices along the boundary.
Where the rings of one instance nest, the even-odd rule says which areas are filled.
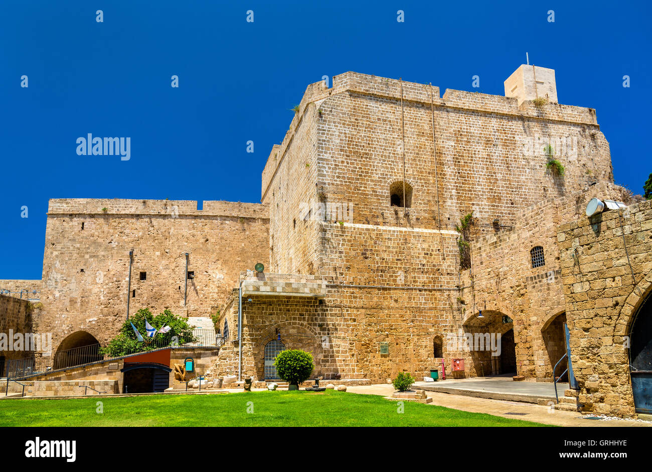
[[[205,201],[198,210],[195,201],[53,199],[40,329],[55,333],[55,349],[76,331],[105,344],[126,319],[127,299],[130,314],[211,316],[241,271],[267,265],[268,225],[267,206],[256,203]]]

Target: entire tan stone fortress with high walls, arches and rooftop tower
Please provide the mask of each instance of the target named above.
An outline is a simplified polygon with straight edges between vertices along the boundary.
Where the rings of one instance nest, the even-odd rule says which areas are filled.
[[[592,198],[621,208],[589,217]],[[595,110],[557,103],[552,69],[520,66],[505,96],[346,72],[306,89],[259,204],[50,200],[42,280],[0,280],[0,328],[57,351],[170,308],[218,315],[211,376],[273,379],[301,348],[314,376],[384,383],[442,364],[552,381],[566,324],[572,408],[631,417],[652,412],[651,203],[614,184]]]

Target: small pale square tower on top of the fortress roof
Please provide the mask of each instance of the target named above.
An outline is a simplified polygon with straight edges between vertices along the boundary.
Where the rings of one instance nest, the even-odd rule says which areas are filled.
[[[522,64],[505,80],[505,96],[518,98],[518,104],[535,98],[557,103],[554,69]]]

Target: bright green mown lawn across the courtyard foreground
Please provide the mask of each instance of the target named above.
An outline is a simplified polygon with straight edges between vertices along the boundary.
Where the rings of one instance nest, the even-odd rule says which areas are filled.
[[[0,400],[0,426],[545,426],[414,402],[399,414],[398,406],[337,391]]]

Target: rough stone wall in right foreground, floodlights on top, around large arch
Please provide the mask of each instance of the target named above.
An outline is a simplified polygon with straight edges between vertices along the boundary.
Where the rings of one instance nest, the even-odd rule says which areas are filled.
[[[652,201],[578,216],[559,227],[557,241],[578,401],[585,411],[631,416],[627,341],[652,290]]]

